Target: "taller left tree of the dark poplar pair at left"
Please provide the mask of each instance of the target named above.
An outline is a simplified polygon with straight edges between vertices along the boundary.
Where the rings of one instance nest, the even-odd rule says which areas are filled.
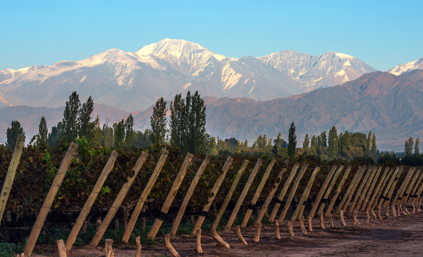
[[[79,99],[79,94],[77,94],[77,91],[73,91],[69,96],[69,102],[66,102],[65,111],[63,112],[62,138],[65,142],[71,142],[78,137],[80,130],[80,121],[78,119],[80,107],[81,102]]]

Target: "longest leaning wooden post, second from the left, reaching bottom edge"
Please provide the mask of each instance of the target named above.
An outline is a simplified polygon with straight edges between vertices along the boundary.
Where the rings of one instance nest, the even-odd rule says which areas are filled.
[[[71,165],[71,161],[74,158],[77,149],[78,145],[74,142],[69,145],[68,151],[66,152],[65,157],[63,158],[62,164],[60,165],[60,168],[56,173],[56,176],[52,182],[49,192],[47,193],[43,206],[41,207],[41,210],[37,215],[34,227],[32,228],[31,234],[29,235],[28,241],[25,245],[24,254],[28,257],[30,257],[32,254],[32,250],[34,249],[38,235],[41,232],[41,228],[44,225],[44,221],[46,220],[50,207],[52,206],[56,194],[59,191],[59,187],[62,184],[62,180],[65,177],[69,166]]]

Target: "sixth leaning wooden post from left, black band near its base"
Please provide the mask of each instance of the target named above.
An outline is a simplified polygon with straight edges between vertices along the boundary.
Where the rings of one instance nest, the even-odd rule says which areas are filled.
[[[184,180],[185,174],[187,174],[187,170],[190,166],[192,158],[194,158],[194,155],[187,153],[187,156],[185,157],[185,160],[181,165],[181,169],[179,169],[178,175],[176,175],[175,181],[173,181],[173,185],[170,188],[168,196],[166,196],[166,200],[162,206],[162,209],[160,210],[159,217],[156,218],[156,221],[154,221],[153,226],[147,234],[147,238],[149,240],[153,240],[156,237],[157,231],[159,231],[160,226],[162,226],[162,223],[165,220],[166,215],[168,214],[170,205],[172,204],[173,199],[175,198],[176,193],[178,192],[179,186],[181,185],[182,180]]]

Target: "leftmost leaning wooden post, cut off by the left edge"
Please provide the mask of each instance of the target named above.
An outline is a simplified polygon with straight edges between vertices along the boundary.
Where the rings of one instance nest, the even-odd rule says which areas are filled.
[[[18,168],[19,160],[22,155],[22,148],[25,143],[25,135],[18,135],[16,140],[15,149],[13,151],[12,159],[10,160],[9,168],[4,179],[3,189],[0,193],[0,221],[3,217],[4,209],[6,207],[7,198],[9,197],[10,190],[12,189],[13,180],[15,179],[16,169]]]

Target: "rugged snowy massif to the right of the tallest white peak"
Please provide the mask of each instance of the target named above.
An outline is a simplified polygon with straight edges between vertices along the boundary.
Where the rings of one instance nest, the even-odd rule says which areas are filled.
[[[291,77],[304,91],[341,85],[365,73],[376,71],[351,55],[334,52],[313,56],[294,50],[283,50],[258,59]]]

